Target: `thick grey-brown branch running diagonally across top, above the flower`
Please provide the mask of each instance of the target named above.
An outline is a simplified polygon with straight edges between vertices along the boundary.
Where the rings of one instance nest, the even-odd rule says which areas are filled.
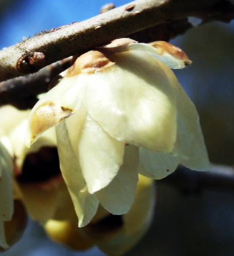
[[[158,25],[165,29],[165,24],[188,16],[228,22],[233,19],[234,5],[227,0],[136,0],[83,22],[41,32],[2,49],[0,81],[37,72],[55,61],[104,45],[115,38]],[[154,41],[152,35],[148,39]]]

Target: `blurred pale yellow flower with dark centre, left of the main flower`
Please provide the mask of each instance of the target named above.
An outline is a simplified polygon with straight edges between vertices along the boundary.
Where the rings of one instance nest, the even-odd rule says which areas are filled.
[[[57,204],[56,200],[60,193],[60,185],[63,182],[62,177],[59,177],[61,174],[58,165],[52,166],[51,169],[48,169],[48,166],[42,166],[43,163],[49,163],[54,151],[51,153],[51,149],[55,148],[57,151],[54,129],[46,131],[30,148],[25,145],[29,113],[30,110],[22,111],[13,106],[3,106],[0,108],[0,124],[2,124],[5,135],[2,138],[5,142],[8,142],[8,147],[12,151],[11,154],[14,155],[14,175],[11,177],[14,200],[20,201],[26,207],[31,218],[39,223],[44,223],[53,217]],[[46,148],[47,150],[44,150]],[[43,162],[42,159],[45,154],[47,162]],[[58,170],[54,170],[56,168]],[[38,169],[40,171],[39,177]],[[53,180],[49,182],[49,188],[48,185],[42,182],[45,179],[43,177],[45,176],[45,170],[48,171],[48,177],[51,176],[50,172],[57,174],[56,177],[52,176]],[[46,180],[46,182],[48,181]]]

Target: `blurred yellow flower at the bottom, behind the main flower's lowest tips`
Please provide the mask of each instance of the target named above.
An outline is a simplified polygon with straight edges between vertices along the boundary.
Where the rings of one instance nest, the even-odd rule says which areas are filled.
[[[125,215],[111,215],[102,207],[85,227],[78,228],[77,220],[50,219],[44,229],[53,240],[76,250],[97,245],[107,255],[122,255],[146,233],[153,218],[156,203],[154,182],[139,176],[136,197]],[[63,211],[63,209],[60,209]]]

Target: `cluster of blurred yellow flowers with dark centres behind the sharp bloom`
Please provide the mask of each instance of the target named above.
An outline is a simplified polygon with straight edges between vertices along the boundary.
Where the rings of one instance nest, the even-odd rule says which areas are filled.
[[[156,202],[152,180],[139,176],[136,197],[131,210],[126,215],[118,215],[115,218],[104,208],[99,207],[91,223],[79,229],[71,197],[60,178],[58,159],[56,155],[51,157],[56,146],[54,129],[46,131],[33,146],[27,148],[24,135],[28,115],[29,111],[19,111],[11,106],[0,108],[0,122],[4,124],[2,127],[5,131],[1,140],[7,147],[7,150],[4,149],[4,154],[8,158],[3,154],[2,157],[4,161],[8,160],[7,169],[10,171],[8,184],[4,187],[10,196],[2,202],[7,203],[8,207],[13,206],[12,193],[10,193],[12,190],[9,189],[12,187],[10,175],[13,162],[12,151],[15,155],[12,177],[14,215],[11,221],[11,216],[8,221],[4,221],[4,229],[1,230],[0,235],[1,238],[6,236],[7,243],[0,241],[0,250],[7,249],[8,245],[14,244],[21,237],[27,223],[26,210],[31,218],[43,225],[50,238],[73,249],[82,250],[97,245],[110,255],[121,255],[131,248],[152,222]],[[10,120],[8,120],[9,116]],[[11,154],[8,154],[8,151]],[[43,152],[46,154],[44,155]],[[46,177],[43,177],[45,169]],[[13,209],[11,215],[12,213]]]

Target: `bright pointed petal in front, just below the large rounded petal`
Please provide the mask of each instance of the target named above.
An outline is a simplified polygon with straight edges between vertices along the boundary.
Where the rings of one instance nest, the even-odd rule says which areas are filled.
[[[124,142],[110,137],[87,115],[79,141],[79,161],[88,192],[106,187],[116,176],[124,155]]]

